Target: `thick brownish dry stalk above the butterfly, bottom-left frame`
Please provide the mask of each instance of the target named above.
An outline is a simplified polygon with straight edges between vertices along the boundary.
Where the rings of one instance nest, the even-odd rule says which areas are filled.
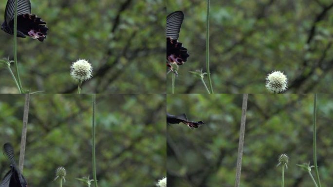
[[[24,165],[24,153],[25,153],[25,144],[27,140],[27,125],[28,125],[28,116],[29,116],[29,103],[30,103],[30,94],[25,94],[24,102],[24,112],[23,112],[23,127],[21,135],[21,148],[19,151],[19,170],[23,173]]]

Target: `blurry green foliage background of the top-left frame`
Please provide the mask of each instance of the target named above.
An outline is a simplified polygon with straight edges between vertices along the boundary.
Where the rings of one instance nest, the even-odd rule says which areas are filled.
[[[6,2],[1,0],[0,18]],[[93,78],[81,93],[166,92],[164,0],[31,0],[31,5],[49,31],[44,42],[18,39],[24,89],[75,93],[70,66],[84,58],[92,63]],[[13,36],[3,31],[0,36],[0,58],[13,59]],[[0,93],[17,93],[4,65]]]

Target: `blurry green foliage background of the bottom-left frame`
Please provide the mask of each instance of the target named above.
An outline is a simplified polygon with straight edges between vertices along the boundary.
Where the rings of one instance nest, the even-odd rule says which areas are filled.
[[[96,95],[96,168],[99,187],[154,187],[166,176],[164,95]],[[0,178],[9,170],[2,145],[19,160],[24,95],[0,95]],[[23,174],[29,187],[85,187],[92,178],[92,95],[31,95]]]

